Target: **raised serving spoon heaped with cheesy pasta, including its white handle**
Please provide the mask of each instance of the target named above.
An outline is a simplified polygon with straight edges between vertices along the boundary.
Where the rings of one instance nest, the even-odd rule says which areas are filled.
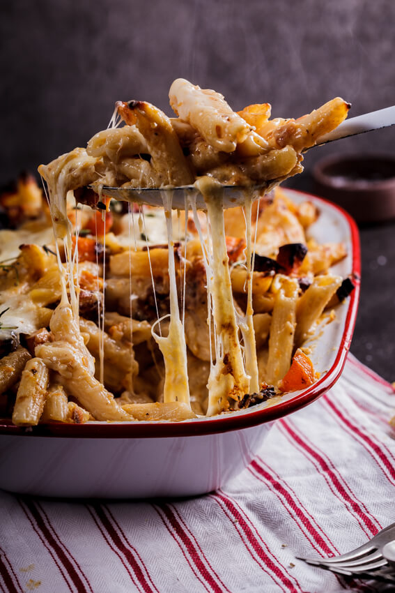
[[[145,101],[118,101],[109,127],[86,149],[40,165],[57,186],[52,193],[74,190],[91,206],[105,196],[183,210],[191,200],[206,209],[205,193],[215,190],[226,209],[302,172],[308,149],[395,123],[395,107],[344,121],[350,104],[339,97],[299,119],[270,119],[269,103],[234,112],[221,94],[184,79],[169,98],[178,117]]]

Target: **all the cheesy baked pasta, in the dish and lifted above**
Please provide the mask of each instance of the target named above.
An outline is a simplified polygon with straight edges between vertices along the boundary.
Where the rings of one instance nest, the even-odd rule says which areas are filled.
[[[343,244],[309,239],[316,207],[276,186],[348,103],[270,119],[183,79],[169,97],[173,118],[116,103],[86,148],[40,165],[45,194],[24,176],[0,195],[0,403],[17,425],[182,421],[317,380],[304,342],[353,283],[331,272]],[[224,186],[243,204],[224,209]],[[158,188],[163,207],[106,187]]]

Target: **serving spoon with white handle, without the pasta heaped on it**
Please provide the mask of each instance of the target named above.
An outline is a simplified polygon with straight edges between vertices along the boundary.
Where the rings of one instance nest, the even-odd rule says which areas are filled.
[[[341,138],[394,126],[394,124],[395,105],[346,119],[335,130],[318,138],[317,144],[314,144],[311,148],[323,146],[323,144],[333,142],[334,140],[341,140]],[[304,149],[302,152],[307,152],[308,150],[310,148]],[[219,198],[222,199],[224,209],[234,208],[235,206],[245,204],[247,195],[253,199],[258,198],[262,190],[268,191],[279,185],[283,180],[283,178],[272,179],[265,181],[265,183],[249,187],[224,185],[221,188]],[[96,190],[94,186],[91,187]],[[159,207],[163,206],[164,196],[167,196],[167,199],[171,197],[172,208],[178,210],[188,208],[188,198],[190,198],[196,200],[197,209],[206,210],[206,202],[203,195],[194,185],[165,188],[114,188],[102,186],[101,191],[102,194],[114,197],[115,200]]]

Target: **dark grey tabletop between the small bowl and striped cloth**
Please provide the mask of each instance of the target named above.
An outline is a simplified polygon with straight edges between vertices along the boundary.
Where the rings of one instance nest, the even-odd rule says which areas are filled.
[[[309,174],[288,186],[316,193]],[[395,381],[395,220],[359,227],[361,296],[351,352],[390,382]]]

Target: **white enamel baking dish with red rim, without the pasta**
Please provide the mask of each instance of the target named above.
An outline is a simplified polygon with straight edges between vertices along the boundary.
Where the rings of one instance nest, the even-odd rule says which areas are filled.
[[[0,420],[0,488],[51,497],[149,498],[201,495],[240,473],[260,451],[273,422],[309,405],[339,379],[357,314],[360,252],[357,226],[346,212],[318,197],[312,238],[341,241],[347,255],[333,272],[353,276],[355,290],[336,308],[334,322],[311,338],[320,379],[279,402],[183,422],[53,423],[33,428]],[[307,343],[308,345],[308,343]],[[270,400],[269,400],[270,402]]]

